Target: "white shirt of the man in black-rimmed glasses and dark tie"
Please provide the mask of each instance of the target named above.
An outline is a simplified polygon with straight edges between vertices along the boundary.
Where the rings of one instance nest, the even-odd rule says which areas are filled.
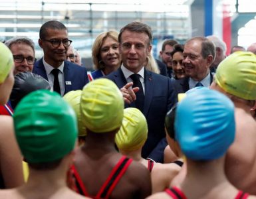
[[[47,72],[47,78],[49,81],[49,84],[51,86],[51,91],[53,91],[53,82],[55,80],[55,76],[53,74],[51,74],[51,71],[53,69],[55,69],[53,66],[51,66],[50,64],[48,64],[47,62],[45,62],[45,58],[43,58],[43,64],[45,66],[45,71]],[[60,83],[60,88],[61,88],[61,96],[64,95],[65,92],[65,85],[64,85],[64,62],[61,64],[61,66],[59,66],[58,68],[60,70],[59,74],[58,74],[58,78],[59,78],[59,83]]]

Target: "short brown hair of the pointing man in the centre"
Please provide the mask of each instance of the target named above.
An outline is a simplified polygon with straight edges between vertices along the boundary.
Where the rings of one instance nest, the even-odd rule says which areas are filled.
[[[142,23],[139,21],[134,21],[132,23],[128,23],[125,27],[122,27],[120,30],[120,33],[118,35],[118,42],[121,43],[121,36],[124,31],[131,31],[131,32],[136,32],[136,33],[146,33],[148,35],[148,45],[152,44],[152,30],[150,26],[146,25],[146,23]]]

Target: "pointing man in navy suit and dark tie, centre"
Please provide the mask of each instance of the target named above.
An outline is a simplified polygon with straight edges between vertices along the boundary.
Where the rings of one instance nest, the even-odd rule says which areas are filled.
[[[152,49],[152,33],[148,25],[140,22],[126,25],[120,31],[118,41],[122,66],[106,78],[122,91],[125,107],[137,107],[147,119],[148,139],[142,157],[163,162],[167,145],[164,118],[176,102],[171,79],[144,68]]]

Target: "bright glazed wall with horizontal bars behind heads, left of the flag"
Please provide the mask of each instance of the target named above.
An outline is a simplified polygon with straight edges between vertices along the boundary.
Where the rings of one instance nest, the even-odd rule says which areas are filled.
[[[142,21],[152,27],[154,38],[183,41],[191,36],[191,0],[148,1],[59,1],[0,0],[0,40],[29,36],[37,44],[39,29],[49,20],[58,20],[68,28],[72,46],[90,57],[94,38],[103,31],[116,30],[131,21]]]

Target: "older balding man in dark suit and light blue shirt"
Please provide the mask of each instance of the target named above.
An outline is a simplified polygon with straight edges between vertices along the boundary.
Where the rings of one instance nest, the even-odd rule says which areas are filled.
[[[209,71],[215,58],[213,42],[203,36],[193,37],[184,45],[183,54],[186,78],[173,80],[176,91],[185,93],[196,86],[209,88],[213,81],[213,74]]]

